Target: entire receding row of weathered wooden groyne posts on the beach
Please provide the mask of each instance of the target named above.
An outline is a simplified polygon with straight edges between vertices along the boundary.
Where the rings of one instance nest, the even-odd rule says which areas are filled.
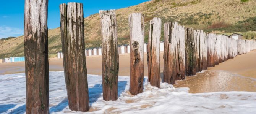
[[[49,66],[47,41],[48,0],[25,0],[24,42],[26,68],[26,113],[49,113]],[[118,46],[115,10],[99,11],[102,32],[102,87],[105,101],[118,98]],[[88,80],[84,44],[83,4],[60,5],[61,40],[68,106],[89,110]],[[161,19],[150,21],[147,46],[148,82],[160,87]],[[132,13],[130,26],[130,93],[143,91],[144,15]],[[179,26],[164,24],[164,82],[212,67],[237,54],[256,48],[256,42],[229,39]]]

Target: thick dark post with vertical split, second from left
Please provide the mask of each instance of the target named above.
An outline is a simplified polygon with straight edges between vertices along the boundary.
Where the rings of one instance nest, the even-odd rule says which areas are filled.
[[[68,106],[73,111],[89,110],[89,94],[84,46],[82,3],[60,5],[61,36]]]

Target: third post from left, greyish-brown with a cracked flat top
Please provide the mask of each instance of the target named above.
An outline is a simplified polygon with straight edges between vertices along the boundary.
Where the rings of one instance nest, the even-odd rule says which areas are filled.
[[[118,98],[118,47],[115,10],[99,11],[102,34],[102,85],[105,101]]]

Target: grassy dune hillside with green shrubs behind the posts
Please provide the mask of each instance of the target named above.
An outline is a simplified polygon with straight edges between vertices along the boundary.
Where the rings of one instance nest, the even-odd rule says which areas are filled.
[[[145,15],[147,42],[149,20],[160,17],[162,24],[178,21],[185,27],[203,29],[205,32],[231,33],[256,31],[256,0],[152,0],[136,6],[118,9],[118,44],[129,43],[128,16],[133,12]],[[99,14],[84,19],[86,48],[101,45]],[[163,36],[162,28],[162,36]],[[24,37],[0,40],[0,58],[24,55]],[[164,38],[162,37],[162,40]],[[61,51],[60,28],[49,30],[49,57]]]

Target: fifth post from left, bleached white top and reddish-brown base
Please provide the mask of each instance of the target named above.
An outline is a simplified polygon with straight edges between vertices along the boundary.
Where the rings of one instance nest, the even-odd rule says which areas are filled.
[[[161,23],[161,19],[156,17],[150,21],[147,45],[148,82],[158,88],[160,88]]]

